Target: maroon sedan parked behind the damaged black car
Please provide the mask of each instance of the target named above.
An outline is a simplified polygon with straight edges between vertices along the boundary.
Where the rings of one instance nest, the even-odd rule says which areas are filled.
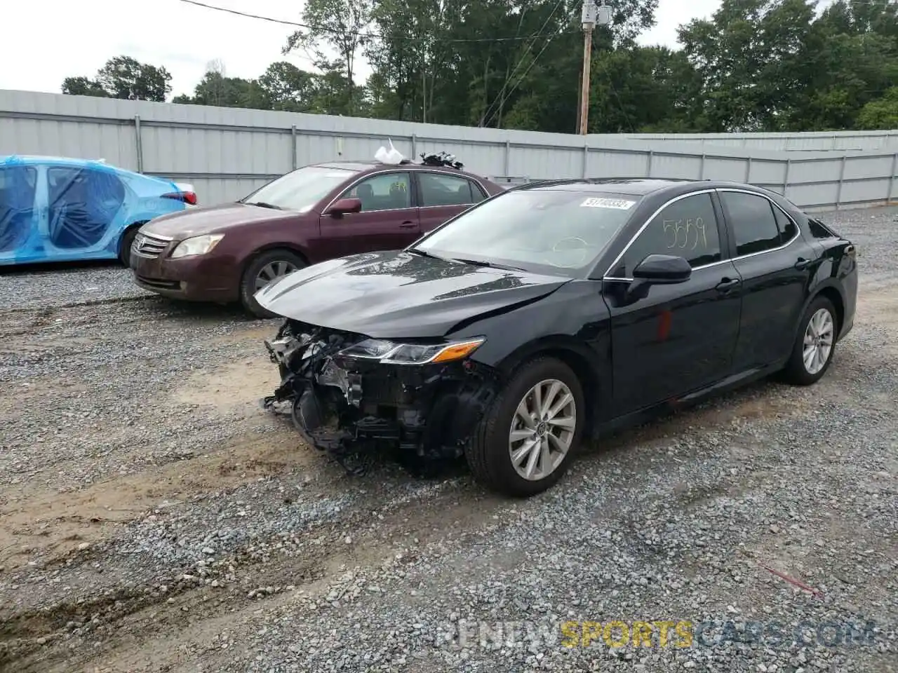
[[[304,166],[237,203],[163,215],[131,247],[136,284],[174,299],[242,302],[330,258],[401,249],[503,188],[462,170],[404,163]]]

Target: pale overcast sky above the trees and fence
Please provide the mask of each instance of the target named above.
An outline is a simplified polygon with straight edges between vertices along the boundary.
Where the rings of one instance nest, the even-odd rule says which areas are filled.
[[[302,11],[302,0],[203,2],[286,21],[299,21]],[[605,2],[613,4],[613,0]],[[674,47],[678,25],[709,17],[718,4],[720,0],[660,0],[655,28],[638,41]],[[207,64],[215,59],[225,64],[225,74],[232,77],[258,77],[278,60],[311,69],[303,54],[281,54],[292,32],[289,26],[214,12],[180,0],[6,0],[4,5],[0,89],[58,93],[66,77],[92,77],[116,56],[164,66],[172,74],[172,96],[192,94]],[[123,11],[126,6],[131,8]],[[369,73],[366,66],[357,72],[359,79]]]

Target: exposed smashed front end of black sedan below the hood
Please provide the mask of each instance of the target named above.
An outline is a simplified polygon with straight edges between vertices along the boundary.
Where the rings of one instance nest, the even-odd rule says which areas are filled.
[[[384,341],[288,319],[265,342],[281,385],[263,406],[290,415],[307,443],[351,474],[364,474],[377,449],[398,450],[418,467],[456,459],[496,394],[497,375],[457,356],[482,339],[432,341]],[[452,348],[452,359],[442,355]]]

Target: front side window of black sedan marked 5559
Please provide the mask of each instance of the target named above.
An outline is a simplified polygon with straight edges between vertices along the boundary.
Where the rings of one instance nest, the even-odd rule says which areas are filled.
[[[656,214],[624,253],[624,268],[618,273],[632,277],[633,269],[648,255],[676,255],[692,268],[719,262],[718,218],[711,195],[681,198]]]

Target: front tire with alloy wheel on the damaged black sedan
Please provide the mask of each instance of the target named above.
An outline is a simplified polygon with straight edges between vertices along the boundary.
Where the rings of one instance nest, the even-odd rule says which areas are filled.
[[[521,365],[480,420],[465,458],[474,477],[501,494],[549,489],[568,469],[586,420],[583,387],[567,364],[539,357]]]

